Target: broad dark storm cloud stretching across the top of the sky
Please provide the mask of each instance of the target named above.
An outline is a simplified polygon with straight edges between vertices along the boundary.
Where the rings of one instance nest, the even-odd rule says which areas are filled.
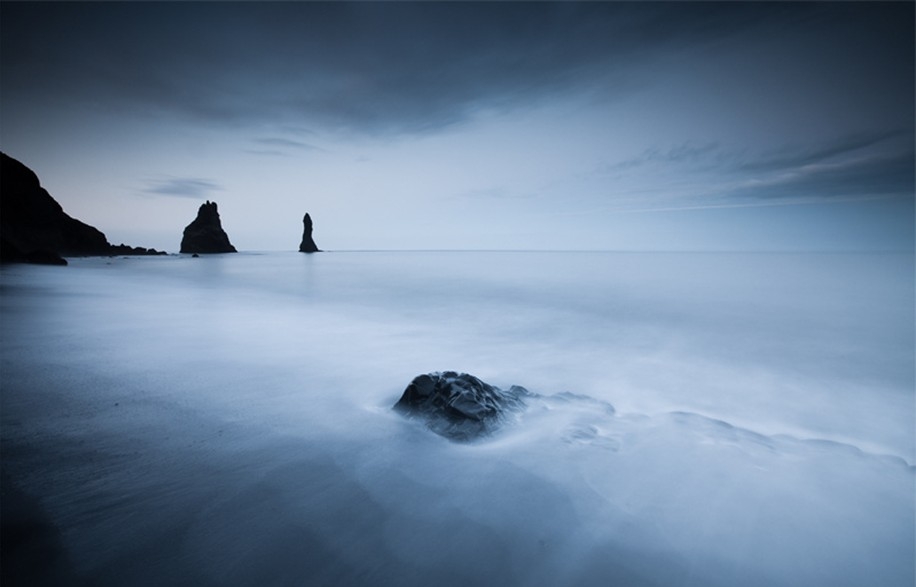
[[[219,124],[421,132],[593,87],[807,7],[618,3],[2,4],[7,100]],[[788,16],[787,16],[788,15]]]

